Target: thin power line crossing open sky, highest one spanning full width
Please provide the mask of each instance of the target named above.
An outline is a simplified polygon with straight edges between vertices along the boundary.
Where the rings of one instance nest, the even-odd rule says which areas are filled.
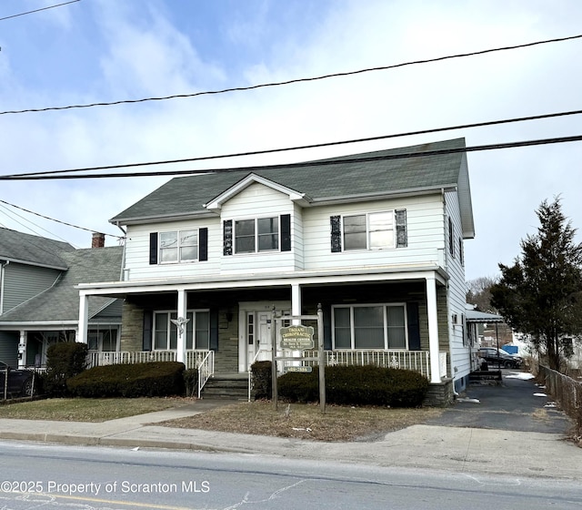
[[[375,71],[386,71],[387,69],[395,69],[397,67],[404,67],[404,66],[415,66],[418,64],[428,64],[431,62],[439,62],[442,60],[449,60],[452,58],[463,58],[466,56],[477,56],[477,55],[486,55],[487,53],[494,53],[497,51],[507,51],[512,49],[518,48],[525,48],[529,46],[538,46],[538,45],[546,45],[550,43],[559,43],[563,41],[569,41],[573,39],[582,38],[582,34],[577,36],[567,36],[567,37],[557,37],[555,39],[546,39],[543,41],[535,41],[533,43],[525,43],[522,45],[515,45],[515,46],[503,46],[497,48],[489,48],[480,51],[474,51],[470,53],[460,53],[457,55],[449,55],[449,56],[437,56],[435,58],[426,58],[423,60],[415,60],[411,62],[402,62],[400,64],[393,64],[390,66],[377,66],[377,67],[366,67],[365,69],[359,69],[356,71],[346,71],[343,73],[332,73],[328,75],[322,76],[311,76],[306,78],[294,78],[286,81],[280,82],[272,82],[272,83],[264,83],[259,85],[252,85],[248,87],[232,87],[232,88],[224,88],[221,90],[207,90],[203,92],[195,92],[192,94],[176,94],[173,96],[164,96],[164,97],[144,97],[142,99],[123,99],[119,101],[111,101],[111,102],[102,102],[102,103],[89,103],[85,105],[69,105],[66,107],[44,107],[44,108],[26,108],[24,110],[7,110],[0,112],[0,115],[12,115],[12,114],[21,114],[21,113],[37,113],[37,112],[45,112],[45,111],[54,111],[54,110],[66,110],[66,109],[73,109],[73,108],[89,108],[89,107],[111,107],[114,105],[125,105],[125,104],[133,104],[133,103],[145,103],[146,101],[165,101],[167,99],[177,99],[177,98],[184,98],[184,97],[198,97],[198,96],[211,96],[216,94],[225,94],[227,92],[240,92],[246,90],[255,90],[257,88],[265,88],[265,87],[280,87],[283,85],[291,85],[294,83],[302,83],[302,82],[309,82],[309,81],[316,81],[322,80],[327,78],[334,78],[340,76],[354,76],[364,73],[371,73]]]

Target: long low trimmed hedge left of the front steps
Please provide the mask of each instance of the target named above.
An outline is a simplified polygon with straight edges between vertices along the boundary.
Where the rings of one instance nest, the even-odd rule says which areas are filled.
[[[153,397],[183,395],[184,363],[150,362],[98,366],[69,379],[66,384],[79,397]]]

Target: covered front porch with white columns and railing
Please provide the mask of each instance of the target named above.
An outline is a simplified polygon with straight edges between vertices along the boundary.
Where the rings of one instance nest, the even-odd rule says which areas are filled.
[[[272,358],[275,316],[314,313],[321,303],[324,338],[315,341],[324,343],[327,365],[402,368],[432,383],[451,374],[446,279],[434,270],[256,282],[81,285],[80,342],[86,342],[84,313],[92,295],[124,298],[124,309],[118,349],[91,352],[90,366],[177,361],[197,368],[202,379],[215,373],[245,374],[253,362]],[[310,352],[305,356],[315,357]]]

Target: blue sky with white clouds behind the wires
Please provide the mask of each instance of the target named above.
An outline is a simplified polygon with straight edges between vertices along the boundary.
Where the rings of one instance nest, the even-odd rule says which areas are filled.
[[[18,15],[65,1],[0,3],[0,175],[582,109],[582,38],[575,38],[278,87],[6,113],[253,87],[582,33],[578,0],[80,0]],[[476,147],[582,135],[580,125],[579,115],[569,115],[117,171],[289,163],[461,137]],[[536,233],[536,209],[545,199],[561,199],[582,241],[582,142],[469,152],[467,161],[476,226],[475,239],[465,242],[467,280],[496,277],[499,262],[513,263],[520,240]],[[95,230],[115,245],[122,232],[108,219],[168,179],[2,180],[0,226],[78,248],[90,247]]]

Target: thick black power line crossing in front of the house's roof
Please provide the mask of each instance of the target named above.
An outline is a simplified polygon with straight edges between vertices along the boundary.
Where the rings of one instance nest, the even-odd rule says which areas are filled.
[[[544,138],[537,140],[524,140],[517,142],[507,142],[500,144],[481,145],[475,147],[465,148],[447,148],[440,150],[427,150],[423,152],[410,152],[405,154],[389,154],[384,156],[369,156],[364,158],[350,158],[343,160],[343,163],[365,163],[370,161],[382,161],[389,159],[402,158],[425,158],[429,156],[442,156],[446,154],[457,154],[461,152],[476,152],[483,150],[497,150],[502,148],[519,148],[519,147],[533,147],[537,145],[549,145],[557,143],[577,142],[582,141],[582,135],[574,137],[561,138]],[[167,170],[157,172],[132,172],[129,174],[91,174],[91,175],[42,175],[42,176],[0,176],[0,180],[56,180],[56,179],[112,179],[112,178],[127,178],[127,177],[167,177],[167,176],[183,176],[183,175],[199,175],[208,173],[226,173],[238,172],[241,170],[272,170],[272,169],[289,169],[289,168],[304,168],[304,167],[325,167],[328,165],[336,165],[338,159],[322,159],[318,161],[306,161],[304,163],[286,163],[280,165],[266,165],[254,167],[232,167],[232,168],[206,168],[198,170]]]

